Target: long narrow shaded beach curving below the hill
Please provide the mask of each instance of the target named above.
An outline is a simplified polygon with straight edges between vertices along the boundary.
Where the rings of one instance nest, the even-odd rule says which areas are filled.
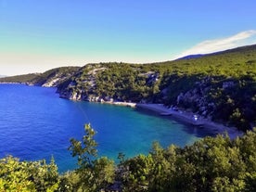
[[[186,112],[182,110],[167,109],[163,104],[136,104],[136,108],[148,109],[155,111],[160,115],[171,116],[173,119],[177,119],[181,122],[187,122],[191,125],[202,126],[205,129],[209,129],[213,134],[227,133],[231,139],[237,138],[243,134],[243,132],[237,130],[236,127],[227,127],[223,124],[212,122],[192,112]]]

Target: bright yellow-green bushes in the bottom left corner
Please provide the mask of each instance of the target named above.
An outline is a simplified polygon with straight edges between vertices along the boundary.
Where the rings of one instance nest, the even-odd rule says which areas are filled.
[[[13,157],[0,160],[0,191],[55,191],[58,168],[54,160],[19,161]]]

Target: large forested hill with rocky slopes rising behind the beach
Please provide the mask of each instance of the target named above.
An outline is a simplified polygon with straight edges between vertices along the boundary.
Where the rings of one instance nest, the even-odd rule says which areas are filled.
[[[65,78],[55,83],[61,97],[164,103],[240,129],[256,124],[256,45],[199,58],[151,64],[97,63],[65,71]],[[42,82],[32,79],[27,83]]]

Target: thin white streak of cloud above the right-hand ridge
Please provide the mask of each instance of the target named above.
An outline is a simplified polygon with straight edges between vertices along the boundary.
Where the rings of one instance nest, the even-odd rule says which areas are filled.
[[[217,51],[223,51],[230,48],[235,48],[242,45],[250,45],[256,43],[256,30],[250,30],[246,32],[239,32],[233,36],[223,38],[223,39],[214,39],[207,40],[204,42],[195,45],[182,54],[175,58],[182,58],[189,55],[195,54],[208,54],[214,53]]]

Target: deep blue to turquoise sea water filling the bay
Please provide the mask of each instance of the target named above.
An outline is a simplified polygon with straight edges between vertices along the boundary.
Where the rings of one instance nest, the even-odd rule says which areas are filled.
[[[70,138],[81,139],[89,122],[97,132],[99,155],[113,160],[119,152],[147,154],[156,140],[163,147],[184,147],[212,135],[147,110],[61,99],[55,88],[0,84],[0,158],[50,160],[53,155],[60,173],[72,170]]]

